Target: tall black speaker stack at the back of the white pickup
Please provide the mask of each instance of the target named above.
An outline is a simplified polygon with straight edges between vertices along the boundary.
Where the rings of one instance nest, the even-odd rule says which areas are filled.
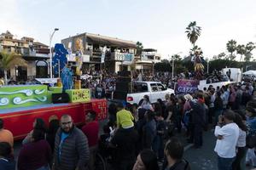
[[[115,91],[113,92],[113,99],[126,101],[126,95],[129,92],[131,92],[131,71],[119,71],[115,83]]]

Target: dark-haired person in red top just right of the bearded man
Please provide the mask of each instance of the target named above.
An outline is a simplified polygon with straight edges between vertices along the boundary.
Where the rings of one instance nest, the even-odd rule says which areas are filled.
[[[90,148],[89,168],[90,170],[93,170],[99,135],[99,123],[96,121],[96,112],[90,111],[86,115],[85,122],[86,124],[82,127],[82,131],[88,139]]]

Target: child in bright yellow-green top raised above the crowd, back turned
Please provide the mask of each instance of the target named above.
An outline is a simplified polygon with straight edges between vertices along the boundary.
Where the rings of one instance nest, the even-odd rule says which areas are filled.
[[[117,114],[116,114],[116,121],[118,128],[131,128],[134,127],[134,117],[131,114],[131,111],[126,111],[125,107],[122,103],[117,105]]]

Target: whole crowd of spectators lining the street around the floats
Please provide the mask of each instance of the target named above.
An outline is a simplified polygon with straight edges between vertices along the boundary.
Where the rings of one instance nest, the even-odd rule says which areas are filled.
[[[139,78],[139,72],[134,78]],[[183,77],[183,75],[180,75]],[[117,75],[106,74],[87,80],[84,86],[92,95],[103,98],[114,90]],[[149,74],[147,80],[171,86],[169,73]],[[186,77],[186,76],[185,76]],[[166,82],[165,82],[166,81]],[[49,127],[37,118],[22,141],[17,159],[14,139],[0,119],[1,170],[79,170],[96,169],[96,153],[109,158],[114,170],[189,170],[183,158],[183,143],[176,133],[184,133],[187,142],[201,149],[204,131],[214,129],[214,151],[218,169],[256,167],[256,99],[252,82],[212,86],[194,94],[166,94],[166,100],[151,103],[145,95],[140,103],[111,103],[108,123],[100,133],[96,112],[90,111],[86,124],[79,128],[69,115],[49,117]],[[213,148],[212,148],[213,150]],[[40,154],[38,154],[40,153]]]

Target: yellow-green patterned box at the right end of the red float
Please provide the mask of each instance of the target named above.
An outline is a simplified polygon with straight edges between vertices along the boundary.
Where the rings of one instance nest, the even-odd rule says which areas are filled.
[[[90,89],[69,89],[66,93],[72,103],[90,101]]]

